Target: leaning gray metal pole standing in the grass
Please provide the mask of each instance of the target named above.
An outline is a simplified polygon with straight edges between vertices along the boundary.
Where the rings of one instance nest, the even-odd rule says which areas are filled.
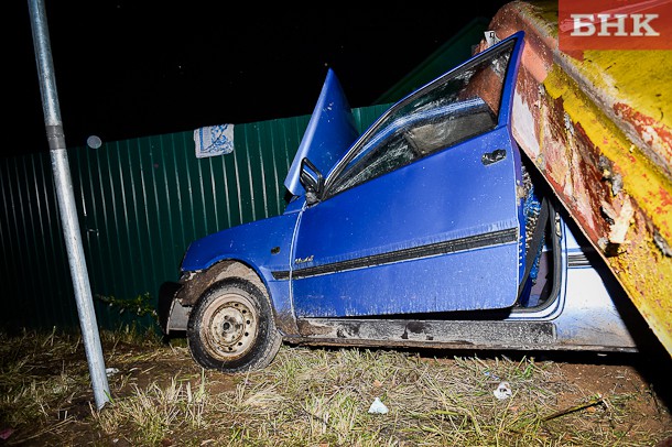
[[[98,324],[96,323],[96,312],[91,298],[91,288],[86,270],[86,260],[82,247],[82,233],[79,231],[79,221],[77,220],[77,208],[73,194],[63,123],[61,121],[58,94],[56,92],[46,12],[42,0],[29,0],[28,8],[31,15],[37,77],[40,78],[40,91],[42,92],[42,109],[44,110],[44,124],[46,127],[46,138],[52,159],[61,224],[63,225],[67,260],[71,275],[73,276],[79,325],[82,326],[84,348],[88,360],[89,373],[91,374],[94,396],[96,399],[96,406],[100,410],[109,402],[110,392],[105,371],[105,361],[102,359],[102,349],[100,347]]]

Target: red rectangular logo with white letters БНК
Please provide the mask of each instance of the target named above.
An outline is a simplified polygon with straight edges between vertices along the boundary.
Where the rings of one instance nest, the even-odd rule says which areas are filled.
[[[560,0],[559,45],[584,50],[672,50],[672,0]]]

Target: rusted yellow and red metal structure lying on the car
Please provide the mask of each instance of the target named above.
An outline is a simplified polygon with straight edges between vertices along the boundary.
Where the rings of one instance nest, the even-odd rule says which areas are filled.
[[[672,353],[672,52],[571,57],[555,1],[508,3],[489,29],[527,36],[513,137]]]

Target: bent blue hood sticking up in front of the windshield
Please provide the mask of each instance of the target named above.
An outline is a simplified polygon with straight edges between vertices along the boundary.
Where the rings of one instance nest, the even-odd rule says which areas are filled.
[[[329,68],[284,186],[295,196],[304,194],[300,182],[301,161],[307,157],[326,175],[357,137],[350,106],[336,74]]]

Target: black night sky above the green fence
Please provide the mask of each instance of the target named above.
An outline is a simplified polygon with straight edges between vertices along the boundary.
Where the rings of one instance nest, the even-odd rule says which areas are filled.
[[[28,2],[8,3],[21,26],[3,152],[48,151]],[[353,107],[369,106],[505,3],[45,1],[66,143],[308,115],[327,67]]]

